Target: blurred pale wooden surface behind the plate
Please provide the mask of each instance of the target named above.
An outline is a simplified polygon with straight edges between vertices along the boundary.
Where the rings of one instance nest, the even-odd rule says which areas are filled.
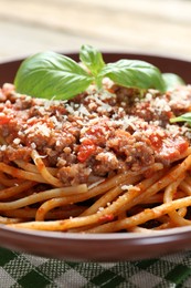
[[[0,61],[43,50],[191,60],[191,0],[0,0]]]

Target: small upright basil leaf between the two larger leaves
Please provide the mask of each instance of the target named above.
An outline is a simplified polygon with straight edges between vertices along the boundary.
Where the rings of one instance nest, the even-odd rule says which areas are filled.
[[[105,65],[102,53],[91,45],[82,45],[79,59],[94,76],[96,76]]]

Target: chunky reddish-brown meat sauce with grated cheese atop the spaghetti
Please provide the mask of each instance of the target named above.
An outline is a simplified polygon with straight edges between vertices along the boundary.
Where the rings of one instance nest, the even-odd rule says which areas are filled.
[[[170,117],[190,111],[191,88],[145,95],[132,89],[95,88],[70,101],[33,99],[0,90],[0,161],[31,161],[36,150],[57,167],[64,185],[91,183],[155,163],[170,165],[190,145],[187,125]]]

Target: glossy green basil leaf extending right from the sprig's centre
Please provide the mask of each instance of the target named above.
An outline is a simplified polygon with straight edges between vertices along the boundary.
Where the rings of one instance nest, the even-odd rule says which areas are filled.
[[[165,81],[158,68],[140,60],[119,60],[106,64],[100,71],[102,76],[108,76],[116,84],[138,88],[157,89],[165,92]]]

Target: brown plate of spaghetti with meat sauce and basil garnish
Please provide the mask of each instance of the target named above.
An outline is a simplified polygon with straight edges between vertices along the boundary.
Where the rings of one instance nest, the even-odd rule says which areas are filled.
[[[189,249],[191,62],[44,51],[0,64],[0,245],[67,260]]]

